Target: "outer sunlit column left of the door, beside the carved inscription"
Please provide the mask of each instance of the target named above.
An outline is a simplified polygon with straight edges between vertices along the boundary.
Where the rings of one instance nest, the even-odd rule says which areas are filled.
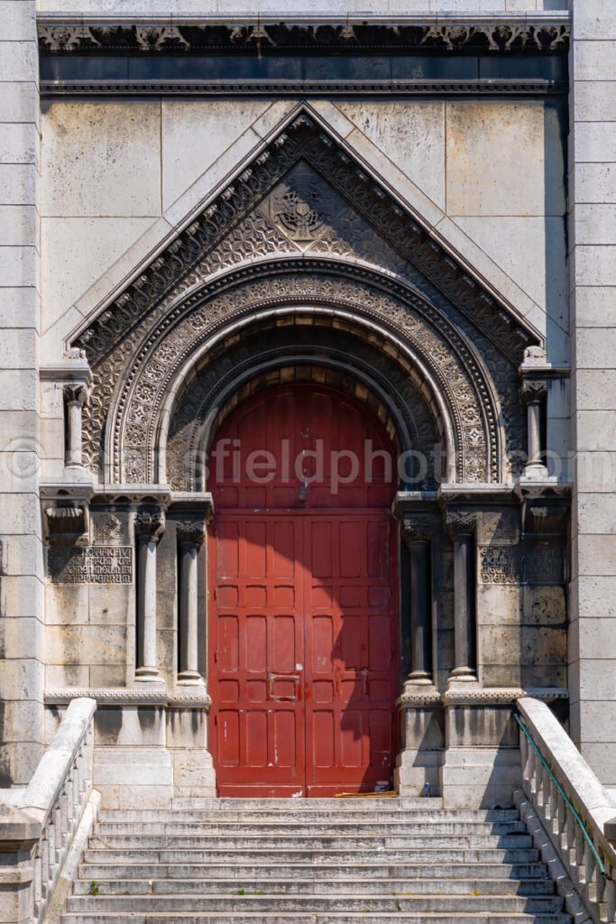
[[[164,532],[164,512],[140,511],[137,538],[137,680],[158,678],[156,654],[156,546]]]

